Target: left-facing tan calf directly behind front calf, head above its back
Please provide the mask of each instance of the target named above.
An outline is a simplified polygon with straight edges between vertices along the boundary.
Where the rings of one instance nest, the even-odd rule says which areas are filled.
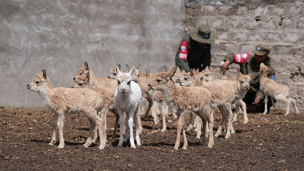
[[[221,114],[222,114],[222,119],[221,119],[221,125],[223,125],[224,121],[227,120],[228,117],[228,129],[226,133],[226,139],[230,138],[230,130],[232,127],[232,111],[231,111],[231,103],[234,98],[234,93],[229,87],[225,86],[205,86],[201,85],[200,79],[198,77],[198,72],[199,70],[196,70],[193,72],[192,69],[190,69],[190,72],[186,73],[184,79],[180,81],[180,84],[183,86],[187,87],[195,87],[195,86],[201,86],[207,89],[211,93],[211,103],[210,107],[218,107]],[[200,136],[200,130],[197,134],[197,137]],[[219,130],[217,133],[221,132],[222,127],[219,126]]]

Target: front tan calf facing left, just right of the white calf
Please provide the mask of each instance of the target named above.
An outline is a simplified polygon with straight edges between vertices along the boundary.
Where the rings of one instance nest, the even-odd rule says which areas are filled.
[[[203,136],[201,144],[206,142],[206,123],[209,124],[209,143],[208,147],[212,148],[213,142],[213,117],[210,115],[210,99],[212,98],[210,92],[203,87],[181,87],[176,86],[172,80],[176,69],[172,68],[166,73],[159,73],[155,75],[155,79],[147,82],[152,90],[161,90],[166,103],[171,107],[173,112],[180,113],[177,123],[177,138],[174,150],[178,150],[180,134],[182,131],[184,146],[182,149],[187,149],[188,142],[185,134],[185,117],[194,112],[203,121]]]

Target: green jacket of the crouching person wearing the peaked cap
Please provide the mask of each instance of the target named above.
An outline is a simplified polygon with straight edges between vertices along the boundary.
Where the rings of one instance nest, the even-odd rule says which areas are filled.
[[[234,61],[234,54],[229,53],[225,56],[224,61],[230,61],[230,64]],[[275,75],[275,68],[270,64],[270,57],[268,57],[263,63],[268,67],[269,71],[267,72],[267,76],[269,79],[271,79],[272,75]],[[250,89],[248,90],[248,93],[255,94],[255,98],[258,96],[261,98],[261,101],[264,100],[264,93],[260,90],[260,64],[255,61],[254,55],[250,55],[247,60],[240,65],[240,72],[244,75],[249,74],[251,71],[251,82],[250,82]]]

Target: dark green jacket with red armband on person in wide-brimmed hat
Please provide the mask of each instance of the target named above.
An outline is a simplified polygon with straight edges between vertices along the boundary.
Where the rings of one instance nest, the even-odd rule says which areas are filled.
[[[183,41],[186,42],[183,43]],[[184,49],[182,49],[184,51],[181,51],[182,46],[184,46]],[[202,71],[207,66],[210,66],[211,49],[211,44],[200,46],[197,41],[190,37],[190,33],[188,33],[183,40],[181,40],[178,51],[176,52],[175,67],[183,67],[186,72],[190,72],[190,68],[199,68],[199,71]]]

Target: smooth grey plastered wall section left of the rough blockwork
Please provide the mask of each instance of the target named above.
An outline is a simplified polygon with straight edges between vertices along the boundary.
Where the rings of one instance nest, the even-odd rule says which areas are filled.
[[[174,65],[183,1],[1,1],[1,106],[44,106],[26,85],[46,69],[70,88],[87,61],[99,78],[116,63],[152,73]]]

